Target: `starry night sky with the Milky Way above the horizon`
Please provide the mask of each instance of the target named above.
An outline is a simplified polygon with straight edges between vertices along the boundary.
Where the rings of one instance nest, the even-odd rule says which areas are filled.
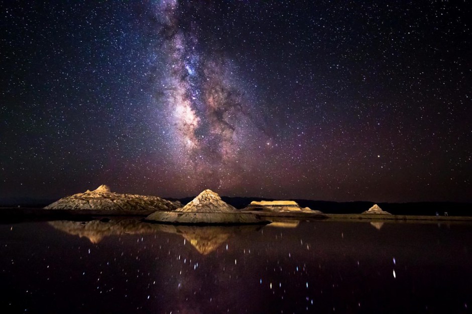
[[[469,1],[0,4],[0,198],[472,201]]]

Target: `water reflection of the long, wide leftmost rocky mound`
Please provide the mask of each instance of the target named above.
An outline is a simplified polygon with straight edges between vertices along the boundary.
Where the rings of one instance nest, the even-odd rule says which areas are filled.
[[[133,219],[110,220],[108,222],[102,222],[99,220],[88,222],[51,221],[49,224],[68,234],[86,237],[90,242],[95,244],[100,242],[106,236],[155,232],[155,229],[149,224]]]

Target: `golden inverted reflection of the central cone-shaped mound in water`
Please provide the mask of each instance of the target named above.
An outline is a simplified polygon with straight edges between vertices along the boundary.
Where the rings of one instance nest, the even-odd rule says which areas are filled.
[[[202,255],[208,255],[231,236],[244,232],[255,232],[260,226],[171,226],[154,225],[156,230],[176,233],[184,237]]]

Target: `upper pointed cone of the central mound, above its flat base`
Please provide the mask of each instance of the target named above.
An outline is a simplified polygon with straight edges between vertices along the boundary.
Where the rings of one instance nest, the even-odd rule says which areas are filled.
[[[200,193],[191,202],[182,208],[177,209],[178,212],[190,213],[237,213],[238,210],[221,200],[218,194],[211,190],[205,190]]]

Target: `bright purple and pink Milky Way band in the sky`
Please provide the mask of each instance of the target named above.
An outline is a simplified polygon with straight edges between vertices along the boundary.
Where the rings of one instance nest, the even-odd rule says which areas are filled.
[[[165,104],[172,161],[188,175],[188,184],[240,185],[244,154],[255,152],[248,139],[267,137],[250,112],[254,103],[238,86],[231,61],[202,47],[196,28],[182,29],[178,2],[163,1],[156,9],[156,31],[162,36],[155,49],[165,56],[157,86],[162,97],[156,101]]]

